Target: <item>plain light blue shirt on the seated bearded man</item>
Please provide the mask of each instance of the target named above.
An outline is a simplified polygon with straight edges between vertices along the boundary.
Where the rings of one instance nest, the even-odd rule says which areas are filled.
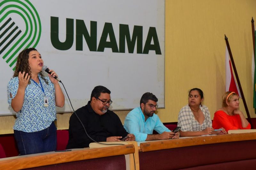
[[[153,130],[159,134],[164,131],[170,132],[155,113],[152,117],[148,117],[145,122],[145,116],[140,107],[133,109],[127,114],[124,120],[124,129],[128,133],[134,134],[136,141],[145,141],[148,134],[153,134]]]

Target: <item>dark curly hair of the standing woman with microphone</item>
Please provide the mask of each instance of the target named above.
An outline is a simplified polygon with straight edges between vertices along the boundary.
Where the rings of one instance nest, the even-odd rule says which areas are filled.
[[[31,68],[29,67],[29,63],[28,63],[28,54],[30,51],[37,51],[37,50],[35,48],[27,48],[22,52],[20,52],[20,54],[18,55],[13,77],[17,77],[19,75],[19,72],[23,73],[25,71],[25,73],[28,73],[28,75],[30,75],[30,79],[31,79],[31,71],[30,71]],[[48,84],[48,81],[44,78],[43,71],[40,71],[39,74],[41,75],[42,79]],[[28,84],[30,84],[30,81],[28,81]]]

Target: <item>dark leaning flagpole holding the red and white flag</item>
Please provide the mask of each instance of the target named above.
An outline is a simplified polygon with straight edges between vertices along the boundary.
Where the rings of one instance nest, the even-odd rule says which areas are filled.
[[[228,37],[226,35],[225,35],[225,41],[226,41],[226,44],[227,44],[228,53],[229,53],[229,57],[230,57],[230,60],[231,60],[231,63],[232,63],[232,67],[233,67],[234,73],[236,75],[236,81],[237,81],[237,84],[238,84],[238,88],[239,88],[239,90],[241,92],[241,97],[242,97],[242,100],[243,100],[243,103],[244,103],[244,108],[245,108],[245,111],[246,111],[246,115],[248,117],[248,121],[251,124],[251,128],[253,129],[253,125],[252,125],[252,121],[251,121],[251,116],[250,116],[250,113],[249,113],[249,110],[248,110],[248,107],[247,107],[247,104],[246,104],[246,101],[245,101],[245,98],[244,98],[243,89],[242,89],[242,86],[241,86],[241,83],[240,83],[240,80],[239,80],[239,77],[238,77],[238,74],[237,74],[237,71],[236,71],[236,65],[235,65],[235,62],[234,62],[234,59],[233,59],[233,55],[231,53],[231,49],[230,49],[229,43],[228,43]]]

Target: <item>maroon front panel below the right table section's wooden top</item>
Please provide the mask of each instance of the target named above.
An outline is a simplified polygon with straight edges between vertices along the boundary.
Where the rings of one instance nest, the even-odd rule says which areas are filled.
[[[255,145],[256,140],[244,140],[139,152],[140,169],[186,169],[197,166],[207,169],[208,165],[220,163],[223,163],[220,169],[230,169],[231,166],[225,166],[226,163],[236,164],[238,161],[241,161],[238,167],[243,166],[242,169],[255,169],[255,166],[252,168],[242,161],[256,159]]]

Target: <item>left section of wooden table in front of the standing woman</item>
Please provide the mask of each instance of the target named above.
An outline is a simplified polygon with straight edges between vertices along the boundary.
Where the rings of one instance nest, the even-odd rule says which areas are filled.
[[[63,170],[72,167],[76,167],[76,169],[80,169],[81,167],[85,168],[87,167],[86,165],[89,164],[96,169],[108,169],[108,167],[110,169],[113,169],[113,167],[126,169],[124,155],[133,154],[134,152],[134,145],[120,145],[95,149],[72,149],[72,151],[69,152],[38,153],[0,159],[0,169],[38,167],[39,169],[57,168]],[[107,161],[104,159],[107,159]],[[104,162],[104,164],[102,165],[101,162]],[[108,166],[105,164],[106,162]]]

